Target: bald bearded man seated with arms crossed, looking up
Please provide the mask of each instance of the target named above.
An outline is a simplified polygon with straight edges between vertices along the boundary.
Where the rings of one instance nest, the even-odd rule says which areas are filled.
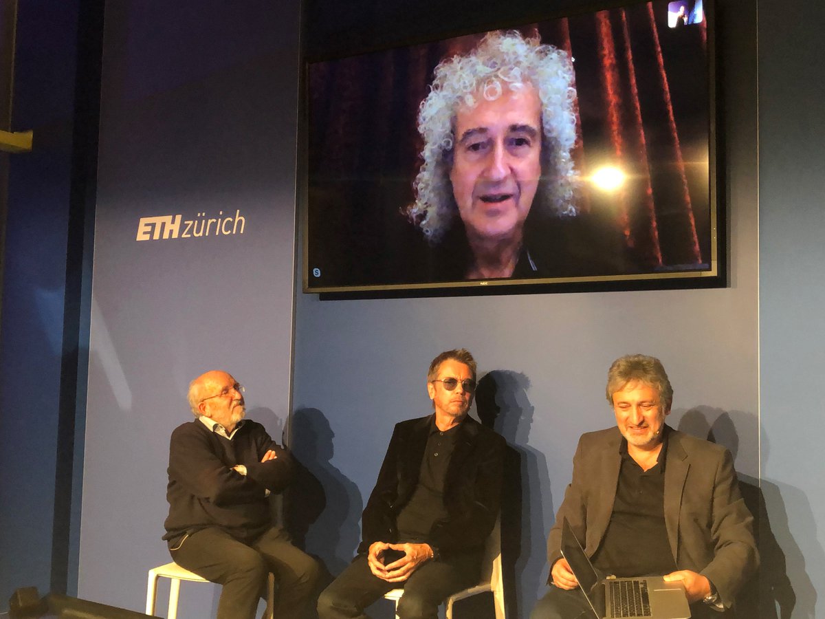
[[[189,385],[196,419],[172,432],[166,535],[181,567],[223,584],[218,619],[252,619],[266,576],[276,574],[275,617],[300,617],[318,565],[273,527],[270,492],[284,489],[294,466],[260,423],[244,419],[243,386],[224,371]]]

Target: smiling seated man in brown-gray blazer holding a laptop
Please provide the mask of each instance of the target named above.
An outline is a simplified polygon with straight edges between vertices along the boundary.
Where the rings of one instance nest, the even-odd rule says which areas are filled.
[[[606,395],[618,428],[579,440],[532,619],[592,617],[559,550],[565,517],[603,574],[665,574],[684,584],[693,617],[724,612],[758,562],[730,452],[665,425],[673,390],[654,357],[614,361]]]

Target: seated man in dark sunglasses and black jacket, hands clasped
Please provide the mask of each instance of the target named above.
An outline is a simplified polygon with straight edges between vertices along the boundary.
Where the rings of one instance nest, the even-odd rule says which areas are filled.
[[[498,517],[505,443],[467,416],[475,371],[464,349],[430,364],[435,413],[395,426],[361,518],[358,555],[321,594],[321,619],[365,617],[365,607],[399,587],[398,617],[437,617],[451,593],[478,584]]]

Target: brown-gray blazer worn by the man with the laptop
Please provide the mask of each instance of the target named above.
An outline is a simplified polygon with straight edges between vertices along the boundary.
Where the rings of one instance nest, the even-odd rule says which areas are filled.
[[[573,456],[573,481],[564,492],[547,541],[549,565],[561,558],[561,523],[567,517],[595,554],[613,512],[619,481],[619,428],[587,432]],[[705,575],[725,607],[759,564],[753,517],[745,507],[730,451],[671,430],[665,461],[665,524],[678,569]]]

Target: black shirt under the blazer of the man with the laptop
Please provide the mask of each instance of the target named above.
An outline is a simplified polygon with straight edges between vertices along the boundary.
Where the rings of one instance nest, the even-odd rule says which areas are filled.
[[[664,514],[667,426],[656,465],[648,470],[636,464],[627,451],[627,440],[619,447],[621,468],[613,513],[605,537],[592,563],[605,574],[620,578],[669,574],[676,561],[667,541]]]

